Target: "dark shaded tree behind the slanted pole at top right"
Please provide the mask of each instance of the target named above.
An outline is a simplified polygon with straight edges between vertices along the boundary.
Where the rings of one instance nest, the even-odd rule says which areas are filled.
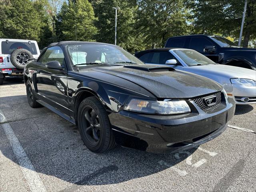
[[[239,38],[244,1],[242,0],[188,0],[196,33],[220,33]],[[256,0],[248,0],[243,30],[243,47],[250,37],[256,38]]]

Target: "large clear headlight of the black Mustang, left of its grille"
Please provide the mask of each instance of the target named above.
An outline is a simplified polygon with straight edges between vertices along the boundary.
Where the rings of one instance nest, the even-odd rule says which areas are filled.
[[[190,108],[184,100],[140,100],[131,99],[124,110],[150,113],[150,114],[180,114],[190,112]]]

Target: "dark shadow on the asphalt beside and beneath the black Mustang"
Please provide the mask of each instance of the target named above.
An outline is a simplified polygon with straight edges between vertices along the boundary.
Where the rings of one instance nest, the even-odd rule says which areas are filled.
[[[60,187],[63,191],[149,176],[172,169],[196,151],[193,148],[177,156],[118,146],[109,152],[95,154],[84,146],[76,126],[47,108],[30,108],[26,95],[2,97],[0,108],[36,172],[76,184],[67,189]],[[2,126],[0,141],[2,154],[18,164]],[[178,168],[172,169],[177,176]]]

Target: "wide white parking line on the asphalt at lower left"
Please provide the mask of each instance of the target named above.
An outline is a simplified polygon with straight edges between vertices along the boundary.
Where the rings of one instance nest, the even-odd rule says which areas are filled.
[[[6,117],[4,116],[1,109],[0,109],[0,117],[1,117],[1,119],[0,119],[1,122],[6,121]],[[4,132],[9,140],[10,145],[12,146],[12,150],[19,162],[22,173],[28,182],[28,186],[29,186],[30,190],[32,192],[46,192],[46,188],[44,187],[44,184],[42,183],[40,177],[36,173],[34,166],[30,162],[28,156],[26,155],[26,152],[24,151],[20,142],[18,141],[18,138],[14,134],[10,124],[4,123],[4,124],[2,124],[2,127],[4,128]]]

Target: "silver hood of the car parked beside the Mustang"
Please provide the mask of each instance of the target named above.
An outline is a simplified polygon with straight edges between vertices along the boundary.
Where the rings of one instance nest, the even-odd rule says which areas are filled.
[[[222,76],[226,78],[246,78],[256,81],[256,71],[241,67],[212,64],[184,67],[185,71],[205,77]]]

